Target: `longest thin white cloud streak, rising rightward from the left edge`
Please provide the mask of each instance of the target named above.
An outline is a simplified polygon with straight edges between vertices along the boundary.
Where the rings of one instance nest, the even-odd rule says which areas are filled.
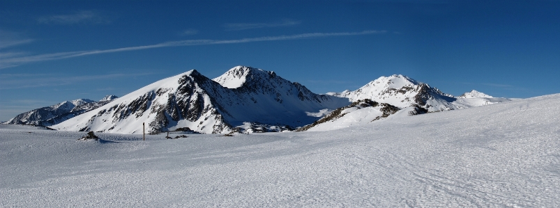
[[[22,63],[31,63],[36,61],[48,61],[57,60],[63,58],[73,58],[77,56],[88,56],[93,54],[107,54],[122,51],[137,51],[143,49],[153,49],[160,47],[181,47],[181,46],[192,46],[192,45],[220,45],[220,44],[235,44],[235,43],[245,43],[245,42],[262,42],[262,41],[276,41],[276,40],[298,40],[305,38],[324,38],[333,36],[351,36],[351,35],[371,35],[371,34],[382,34],[386,31],[361,31],[361,32],[344,32],[344,33],[303,33],[298,35],[280,35],[280,36],[266,36],[260,38],[243,38],[236,40],[180,40],[172,42],[162,42],[156,45],[144,45],[136,47],[122,47],[117,49],[105,49],[105,50],[91,50],[91,51],[70,51],[61,52],[54,54],[40,54],[35,56],[20,56],[12,58],[0,58],[0,67],[5,65],[17,65]]]

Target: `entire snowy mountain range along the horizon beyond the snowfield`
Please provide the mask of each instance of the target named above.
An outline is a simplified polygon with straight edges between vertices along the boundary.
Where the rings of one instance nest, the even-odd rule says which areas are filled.
[[[317,130],[333,127],[329,122],[339,123],[337,128],[372,122],[392,116],[394,109],[417,115],[507,101],[476,90],[454,97],[401,74],[379,77],[354,91],[319,95],[275,72],[236,66],[214,79],[190,70],[120,98],[107,95],[100,102],[83,101],[80,107],[73,106],[72,113],[59,113],[36,125],[121,134],[141,134],[143,126],[154,134],[187,128],[206,134],[291,131],[304,126]],[[391,106],[386,107],[391,111],[382,110],[383,106]],[[334,116],[333,111],[344,113]]]

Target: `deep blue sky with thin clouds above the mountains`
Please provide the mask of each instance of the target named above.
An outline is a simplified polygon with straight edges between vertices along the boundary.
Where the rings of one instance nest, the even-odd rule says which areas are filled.
[[[0,121],[188,70],[314,93],[403,74],[444,93],[560,93],[560,1],[0,1]]]

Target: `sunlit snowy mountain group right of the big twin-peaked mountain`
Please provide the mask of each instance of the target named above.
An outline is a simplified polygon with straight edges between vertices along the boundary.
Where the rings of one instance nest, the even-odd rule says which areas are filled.
[[[341,129],[352,125],[364,125],[392,114],[417,115],[510,101],[510,99],[492,97],[476,90],[464,93],[460,97],[453,97],[453,95],[442,93],[437,88],[430,87],[427,83],[421,83],[403,75],[379,77],[358,90],[327,94],[347,97],[354,103],[337,109],[298,131]],[[383,104],[385,109],[382,109],[379,104],[368,104],[368,100]],[[386,106],[393,106],[398,110],[388,111],[391,108]]]

